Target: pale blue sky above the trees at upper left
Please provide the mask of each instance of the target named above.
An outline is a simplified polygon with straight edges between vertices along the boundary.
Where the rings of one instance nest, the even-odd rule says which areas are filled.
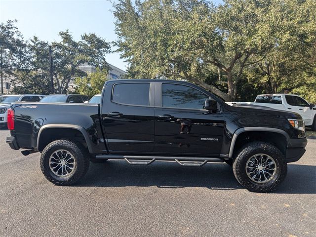
[[[221,2],[221,0],[213,0]],[[114,41],[115,18],[109,0],[0,0],[0,22],[16,19],[16,26],[28,40],[59,40],[58,32],[69,29],[75,40],[84,33]],[[126,70],[119,53],[107,55],[107,62]]]

